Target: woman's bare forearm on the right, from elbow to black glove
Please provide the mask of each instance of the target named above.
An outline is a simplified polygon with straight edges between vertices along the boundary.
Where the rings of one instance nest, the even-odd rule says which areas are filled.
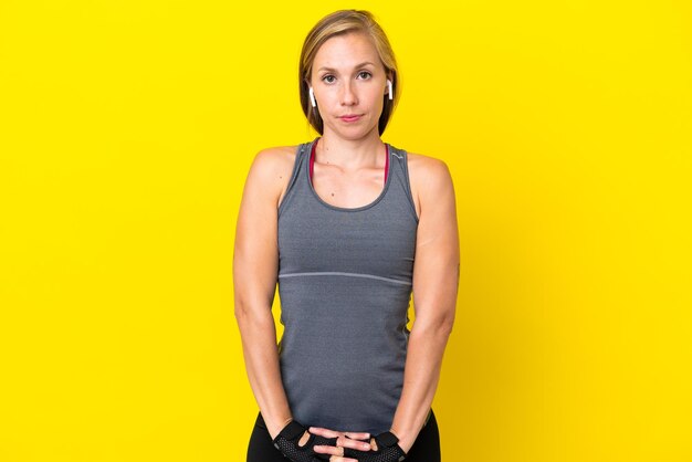
[[[440,379],[451,322],[416,322],[409,337],[403,389],[391,431],[407,452],[426,422]]]

